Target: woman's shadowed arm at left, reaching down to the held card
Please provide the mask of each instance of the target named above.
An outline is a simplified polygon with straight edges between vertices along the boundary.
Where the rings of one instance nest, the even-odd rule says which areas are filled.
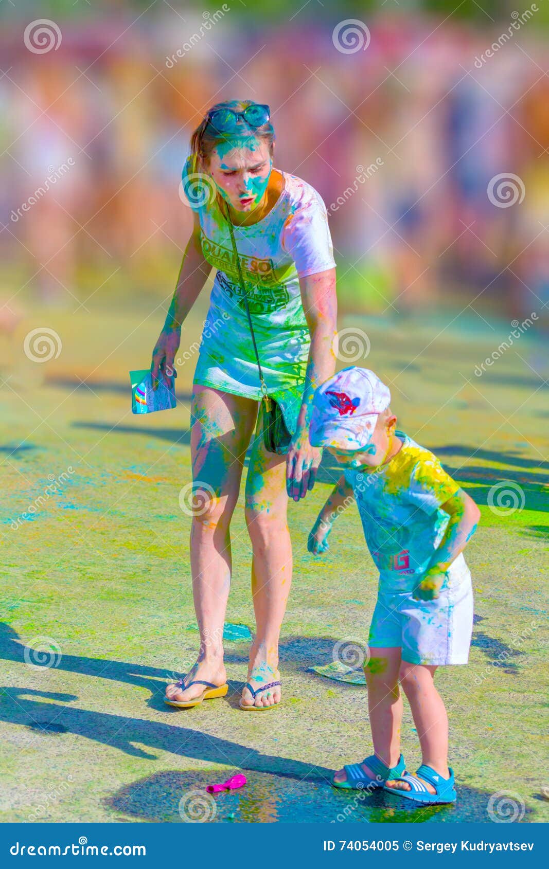
[[[181,341],[182,323],[197,301],[210,271],[211,266],[202,253],[200,221],[195,212],[192,234],[185,248],[177,276],[176,289],[164,321],[164,327],[152,351],[151,374],[152,386],[155,389],[158,385],[159,370],[163,372],[166,383],[168,382],[166,368],[173,368],[173,361]]]

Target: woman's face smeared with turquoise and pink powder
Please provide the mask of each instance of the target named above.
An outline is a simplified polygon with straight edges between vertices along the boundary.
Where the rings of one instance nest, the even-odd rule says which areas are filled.
[[[253,211],[262,201],[271,176],[272,160],[264,139],[243,136],[219,143],[207,171],[219,192],[236,211]]]

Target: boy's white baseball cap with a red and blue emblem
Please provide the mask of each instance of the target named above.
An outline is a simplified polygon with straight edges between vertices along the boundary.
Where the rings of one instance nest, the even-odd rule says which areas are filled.
[[[309,441],[313,447],[360,449],[372,440],[378,415],[391,392],[369,368],[351,365],[322,383],[312,398]]]

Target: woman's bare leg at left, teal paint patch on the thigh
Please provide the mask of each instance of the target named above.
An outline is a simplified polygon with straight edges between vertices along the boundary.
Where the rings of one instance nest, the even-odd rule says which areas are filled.
[[[223,626],[231,586],[230,524],[255,427],[258,402],[195,385],[191,403],[192,594],[200,631],[198,660],[186,682],[204,680],[222,685]],[[171,700],[191,700],[204,686],[182,691],[169,685]]]

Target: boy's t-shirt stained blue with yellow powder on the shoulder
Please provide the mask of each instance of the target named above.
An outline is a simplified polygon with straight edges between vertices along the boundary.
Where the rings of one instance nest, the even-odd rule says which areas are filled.
[[[345,480],[357,501],[380,587],[404,591],[415,587],[429,566],[450,519],[440,506],[459,485],[436,455],[404,432],[395,434],[403,444],[385,468],[372,472],[347,468]],[[453,565],[458,567],[458,560]]]

